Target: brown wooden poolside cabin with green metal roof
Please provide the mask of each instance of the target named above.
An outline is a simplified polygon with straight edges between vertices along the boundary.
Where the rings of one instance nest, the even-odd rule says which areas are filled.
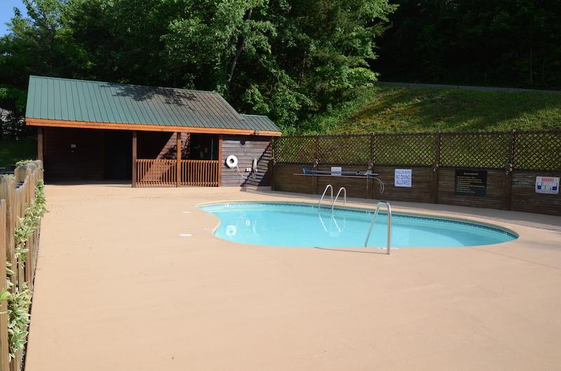
[[[29,76],[25,123],[37,127],[45,179],[137,186],[269,186],[266,116],[217,92]]]

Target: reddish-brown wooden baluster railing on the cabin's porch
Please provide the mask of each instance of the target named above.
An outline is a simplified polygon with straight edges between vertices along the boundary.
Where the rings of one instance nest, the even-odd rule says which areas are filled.
[[[219,186],[218,160],[136,160],[137,186]]]

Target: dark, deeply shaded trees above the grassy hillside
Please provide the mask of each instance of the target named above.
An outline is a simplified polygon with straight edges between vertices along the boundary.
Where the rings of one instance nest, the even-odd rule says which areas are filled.
[[[383,80],[561,89],[560,0],[398,0]]]

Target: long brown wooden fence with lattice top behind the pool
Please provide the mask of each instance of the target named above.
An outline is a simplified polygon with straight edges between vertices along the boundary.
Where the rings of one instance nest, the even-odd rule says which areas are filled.
[[[366,178],[295,175],[302,174],[303,167],[330,172],[332,166],[377,173],[386,190],[380,195],[377,182]],[[396,169],[411,170],[409,187],[396,186]],[[485,178],[484,192],[463,192],[457,186],[457,171],[468,170]],[[273,141],[271,176],[273,189],[288,192],[317,194],[332,183],[345,186],[353,197],[561,215],[561,194],[535,190],[537,176],[561,176],[561,132],[280,137]]]

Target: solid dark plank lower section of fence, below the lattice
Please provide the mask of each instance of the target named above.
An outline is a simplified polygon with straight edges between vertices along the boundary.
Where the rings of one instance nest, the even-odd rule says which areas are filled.
[[[379,179],[384,181],[386,190],[379,195],[377,183],[372,182],[372,191],[367,190],[365,179],[335,176],[299,176],[302,167],[311,167],[309,163],[276,163],[273,167],[273,189],[284,192],[320,194],[327,184],[332,184],[335,193],[344,186],[349,197],[374,198],[389,201],[431,202],[434,193],[439,204],[452,204],[468,207],[485,207],[491,209],[512,209],[541,214],[561,216],[561,194],[542,195],[534,192],[536,176],[561,176],[561,172],[525,172],[515,171],[511,175],[512,186],[509,188],[508,177],[503,170],[487,169],[487,195],[482,197],[456,195],[454,193],[455,168],[440,168],[438,183],[432,183],[433,171],[429,167],[374,167]],[[366,167],[342,166],[343,171],[365,170]],[[412,188],[393,186],[394,169],[412,169]],[[319,170],[330,170],[330,165],[320,165]],[[508,192],[511,192],[510,202]]]

